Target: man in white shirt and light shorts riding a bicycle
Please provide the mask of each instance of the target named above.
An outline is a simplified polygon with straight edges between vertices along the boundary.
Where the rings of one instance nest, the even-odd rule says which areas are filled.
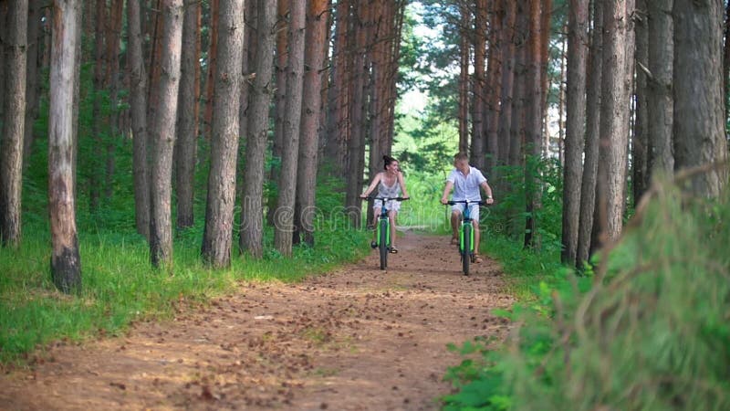
[[[492,204],[495,200],[492,199],[492,187],[486,183],[486,177],[479,169],[469,165],[469,157],[464,153],[458,153],[454,155],[454,170],[446,178],[446,186],[443,187],[443,195],[441,197],[441,204],[447,204],[449,201],[449,193],[454,188],[454,201],[461,200],[475,200],[479,201],[482,199],[482,194],[479,192],[479,187],[482,187],[486,193],[486,204]],[[464,204],[452,205],[451,213],[451,227],[452,227],[452,238],[451,244],[458,245],[458,227],[459,220],[464,214]],[[479,250],[479,205],[469,205],[469,216],[472,218],[472,224],[474,225],[474,250],[478,253]],[[474,262],[482,262],[482,258],[478,254],[474,255]]]

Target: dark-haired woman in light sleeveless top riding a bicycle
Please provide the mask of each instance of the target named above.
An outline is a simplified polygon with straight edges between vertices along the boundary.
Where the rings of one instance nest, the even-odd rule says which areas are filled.
[[[366,198],[375,187],[378,187],[377,197],[403,197],[408,198],[408,191],[405,189],[405,179],[403,174],[398,167],[398,160],[392,158],[390,155],[382,156],[385,169],[384,172],[375,174],[372,179],[372,183],[367,190],[365,190],[360,198]],[[401,195],[402,192],[402,195]],[[374,211],[373,225],[377,227],[378,216],[381,215],[381,207],[383,206],[381,201],[373,201],[372,209]],[[396,200],[389,200],[385,203],[385,208],[388,210],[388,217],[391,221],[391,253],[397,253],[398,248],[395,247],[395,217],[398,215],[398,210],[401,209],[401,202]],[[374,231],[373,231],[374,233]],[[373,240],[370,243],[370,247],[377,248],[378,243]]]

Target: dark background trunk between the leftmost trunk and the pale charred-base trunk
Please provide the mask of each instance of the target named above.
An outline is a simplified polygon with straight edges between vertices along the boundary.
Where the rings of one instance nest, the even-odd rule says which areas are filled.
[[[26,65],[26,126],[23,142],[24,168],[33,149],[33,123],[38,116],[38,42],[40,37],[41,0],[28,1],[28,37],[27,37],[27,65]],[[0,73],[0,75],[2,75]]]

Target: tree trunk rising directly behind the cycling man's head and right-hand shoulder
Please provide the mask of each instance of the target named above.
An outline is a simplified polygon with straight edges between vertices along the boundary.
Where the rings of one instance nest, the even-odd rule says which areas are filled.
[[[497,153],[485,153],[485,61],[486,61],[486,0],[476,0],[474,11],[474,100],[472,102],[472,150],[470,163],[484,169],[485,154],[494,162]]]

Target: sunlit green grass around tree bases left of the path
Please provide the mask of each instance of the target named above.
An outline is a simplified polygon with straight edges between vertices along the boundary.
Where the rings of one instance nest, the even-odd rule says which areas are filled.
[[[295,248],[291,259],[269,252],[261,260],[235,257],[230,269],[214,270],[201,263],[202,235],[194,230],[176,239],[172,273],[167,273],[151,269],[147,243],[138,235],[81,233],[82,291],[68,296],[50,279],[47,230],[25,228],[21,248],[0,248],[0,363],[22,361],[58,339],[119,334],[131,321],[170,318],[175,304],[235,292],[240,280],[297,281],[369,250],[369,233],[322,229],[316,248]]]

